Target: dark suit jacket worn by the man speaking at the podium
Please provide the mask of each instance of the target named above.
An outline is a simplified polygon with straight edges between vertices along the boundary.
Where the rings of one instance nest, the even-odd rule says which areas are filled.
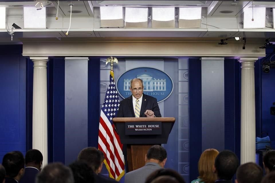
[[[133,95],[128,98],[125,98],[120,102],[117,118],[134,118],[135,112],[133,108]],[[152,110],[156,117],[161,117],[160,108],[158,107],[157,99],[149,95],[143,94],[142,104],[140,108],[140,117],[146,117],[144,112],[146,110]]]

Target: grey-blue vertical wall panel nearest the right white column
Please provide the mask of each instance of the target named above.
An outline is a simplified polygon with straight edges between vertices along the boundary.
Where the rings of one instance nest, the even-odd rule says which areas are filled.
[[[224,150],[224,61],[202,60],[202,150]],[[218,138],[217,138],[218,137]]]

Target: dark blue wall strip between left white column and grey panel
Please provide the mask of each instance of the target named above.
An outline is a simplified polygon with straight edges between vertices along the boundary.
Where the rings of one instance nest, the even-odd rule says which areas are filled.
[[[50,60],[50,118],[49,150],[52,161],[65,163],[65,60]]]

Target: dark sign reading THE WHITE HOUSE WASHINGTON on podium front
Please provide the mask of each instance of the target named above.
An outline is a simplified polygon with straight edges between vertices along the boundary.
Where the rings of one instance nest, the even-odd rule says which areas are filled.
[[[161,135],[161,122],[125,123],[125,135]]]

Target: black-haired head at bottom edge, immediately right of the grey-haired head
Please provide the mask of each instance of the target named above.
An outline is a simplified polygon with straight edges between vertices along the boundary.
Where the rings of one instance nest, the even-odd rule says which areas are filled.
[[[76,161],[69,165],[74,175],[74,183],[94,183],[94,172],[85,162]]]

